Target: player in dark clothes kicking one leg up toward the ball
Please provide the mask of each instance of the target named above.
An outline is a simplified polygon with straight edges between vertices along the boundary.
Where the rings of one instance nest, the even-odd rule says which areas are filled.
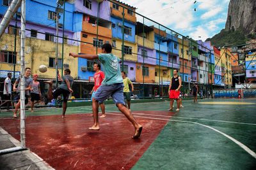
[[[68,96],[70,92],[72,93],[73,90],[72,84],[74,82],[74,78],[70,76],[70,69],[65,69],[64,76],[61,78],[60,75],[58,75],[59,80],[61,80],[61,85],[52,92],[52,81],[44,81],[45,83],[49,83],[49,89],[47,93],[48,100],[57,99],[58,96],[62,94],[63,96],[63,104],[62,104],[62,117],[65,118],[65,113],[67,110],[67,103],[68,103]]]

